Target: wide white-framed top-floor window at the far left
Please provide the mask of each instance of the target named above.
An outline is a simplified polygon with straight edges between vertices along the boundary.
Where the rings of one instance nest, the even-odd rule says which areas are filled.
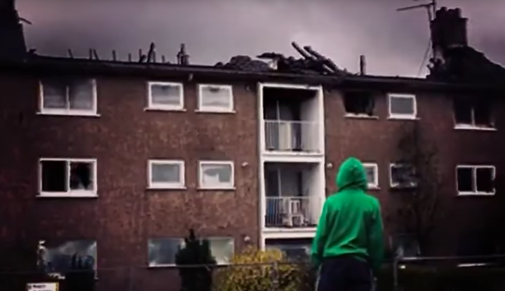
[[[95,80],[45,80],[40,83],[42,114],[96,115]]]

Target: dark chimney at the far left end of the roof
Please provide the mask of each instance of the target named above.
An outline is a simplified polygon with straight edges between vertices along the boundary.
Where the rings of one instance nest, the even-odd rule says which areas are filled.
[[[22,59],[27,53],[25,34],[14,0],[0,0],[0,59]]]

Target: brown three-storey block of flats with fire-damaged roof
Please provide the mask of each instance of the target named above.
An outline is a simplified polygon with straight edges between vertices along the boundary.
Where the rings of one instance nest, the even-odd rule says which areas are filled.
[[[440,11],[432,29],[464,21]],[[3,25],[23,39],[13,46],[25,46],[19,25]],[[248,243],[297,255],[348,156],[365,163],[395,245],[403,186],[415,184],[398,140],[414,128],[436,145],[438,211],[447,213],[431,252],[483,252],[480,231],[499,219],[504,186],[505,86],[493,80],[505,69],[459,29],[463,39],[434,38],[439,61],[427,79],[301,72],[285,59],[277,69],[252,60],[197,66],[184,52],[172,65],[152,55],[120,62],[0,50],[1,257],[34,270],[39,245],[39,267],[58,273],[79,252],[95,262],[100,285],[127,284],[125,270],[107,270],[135,266],[135,280],[156,288],[190,228],[222,264]]]

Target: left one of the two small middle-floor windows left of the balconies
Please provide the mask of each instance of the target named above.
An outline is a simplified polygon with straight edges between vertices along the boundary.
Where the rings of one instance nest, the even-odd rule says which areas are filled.
[[[184,188],[184,161],[151,160],[148,167],[149,188]]]

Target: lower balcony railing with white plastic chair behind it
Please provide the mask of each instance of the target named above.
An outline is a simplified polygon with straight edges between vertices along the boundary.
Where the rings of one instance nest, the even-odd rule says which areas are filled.
[[[316,227],[321,198],[309,196],[267,197],[266,227]]]

